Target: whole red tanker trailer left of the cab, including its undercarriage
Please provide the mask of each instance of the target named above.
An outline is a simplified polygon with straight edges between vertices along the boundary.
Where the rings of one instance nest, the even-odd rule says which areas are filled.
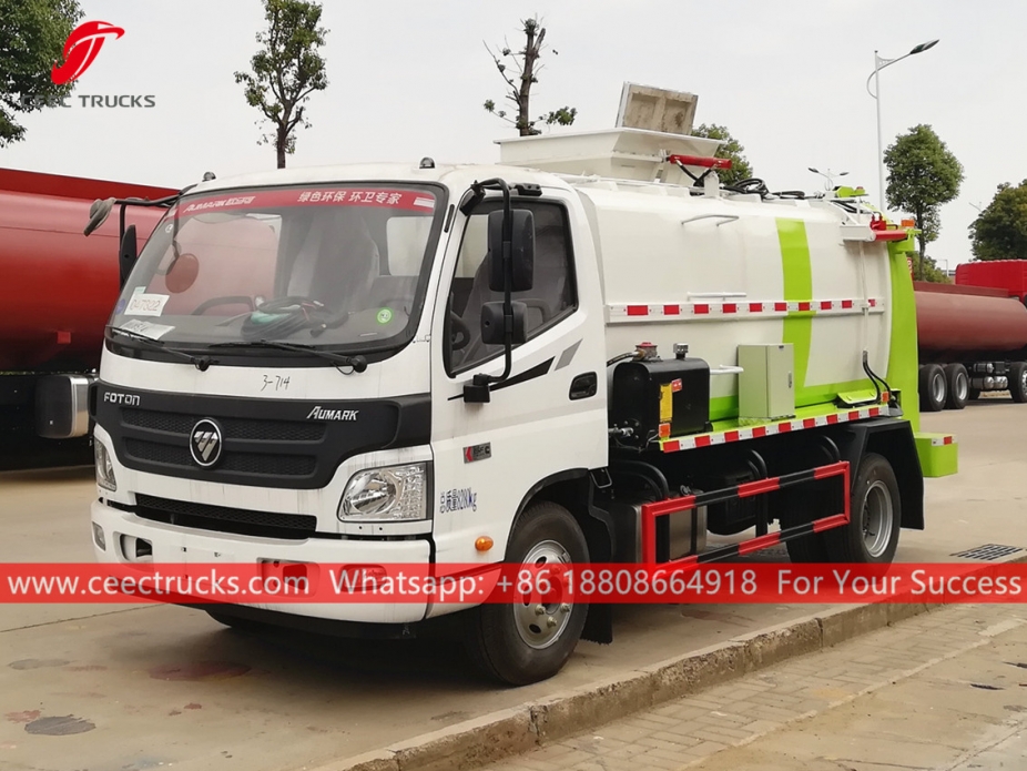
[[[0,455],[30,446],[88,449],[85,393],[119,292],[116,217],[87,239],[98,197],[160,200],[177,191],[0,169]],[[126,225],[148,236],[161,207],[133,206]],[[99,237],[98,237],[99,236]],[[9,465],[9,464],[4,464]],[[17,464],[23,465],[23,464]]]

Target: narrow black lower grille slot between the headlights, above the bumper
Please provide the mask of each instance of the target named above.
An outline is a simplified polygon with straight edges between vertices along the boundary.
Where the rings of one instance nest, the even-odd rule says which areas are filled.
[[[136,495],[135,515],[142,519],[218,532],[264,538],[302,539],[314,535],[317,517],[307,514],[253,511]]]

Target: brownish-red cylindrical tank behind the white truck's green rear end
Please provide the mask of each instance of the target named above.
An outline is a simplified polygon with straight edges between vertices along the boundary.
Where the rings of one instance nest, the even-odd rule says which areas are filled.
[[[1003,354],[1027,346],[1027,307],[1008,291],[916,282],[922,352]]]

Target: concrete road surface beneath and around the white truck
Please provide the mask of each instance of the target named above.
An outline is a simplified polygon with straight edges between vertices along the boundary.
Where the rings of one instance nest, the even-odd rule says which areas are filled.
[[[1027,433],[1015,428],[1025,418],[1027,408],[1008,403],[928,416],[925,429],[958,433],[963,473],[928,481],[928,530],[904,532],[899,559],[946,560],[987,542],[1027,546],[1020,526]],[[91,559],[90,474],[7,475],[0,487],[0,560]],[[499,690],[479,681],[446,642],[247,637],[173,607],[0,607],[0,768],[282,771],[616,677],[816,609],[621,608],[613,646],[582,643],[553,680]],[[53,736],[73,731],[81,732]]]

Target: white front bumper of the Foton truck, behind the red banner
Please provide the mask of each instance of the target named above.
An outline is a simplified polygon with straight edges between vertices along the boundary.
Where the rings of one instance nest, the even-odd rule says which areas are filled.
[[[308,538],[282,540],[226,532],[212,532],[154,523],[94,500],[90,507],[94,526],[103,531],[105,548],[95,539],[93,550],[100,562],[131,564],[122,550],[123,537],[149,541],[155,564],[181,565],[202,562],[257,564],[267,560],[314,562],[322,565],[427,565],[430,545],[427,540],[336,540]],[[210,606],[212,609],[217,606]],[[313,618],[355,621],[360,623],[413,623],[425,618],[426,602],[395,603],[248,603],[247,607]]]

